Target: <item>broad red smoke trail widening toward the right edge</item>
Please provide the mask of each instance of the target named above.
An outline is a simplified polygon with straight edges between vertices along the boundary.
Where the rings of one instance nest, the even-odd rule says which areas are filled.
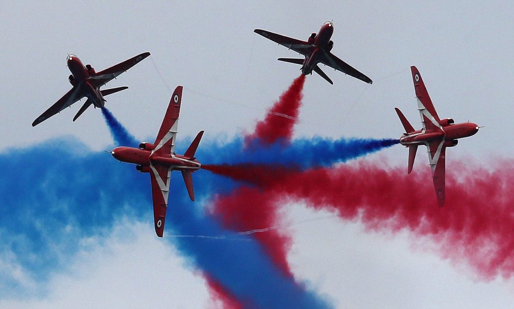
[[[375,230],[408,229],[432,239],[440,246],[443,257],[466,260],[484,279],[498,275],[511,278],[514,275],[513,163],[505,161],[494,169],[450,166],[447,201],[442,208],[437,207],[428,170],[407,175],[405,168],[383,167],[383,162],[360,161],[352,166],[290,173],[285,178],[274,177],[264,167],[268,172],[261,175],[269,176],[255,181],[256,185],[264,186],[262,191],[248,190],[271,200],[275,197],[275,201],[278,197],[289,197],[315,209],[335,210],[345,220],[359,217]],[[230,173],[234,172],[225,174]],[[224,199],[218,197],[219,201]],[[217,207],[223,209],[223,205]],[[277,211],[277,206],[270,209]]]

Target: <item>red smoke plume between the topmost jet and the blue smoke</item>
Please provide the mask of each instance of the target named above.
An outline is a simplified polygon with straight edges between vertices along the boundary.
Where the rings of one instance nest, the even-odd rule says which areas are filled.
[[[256,138],[263,144],[271,144],[280,138],[291,138],[293,126],[298,121],[304,82],[305,75],[300,75],[292,82],[289,89],[268,110],[266,118],[256,124],[255,132],[246,136],[247,145]]]

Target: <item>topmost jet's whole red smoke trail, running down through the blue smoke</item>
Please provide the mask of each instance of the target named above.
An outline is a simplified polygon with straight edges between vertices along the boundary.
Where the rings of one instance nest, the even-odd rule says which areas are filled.
[[[293,126],[298,121],[304,82],[304,75],[300,75],[292,82],[289,89],[270,108],[266,118],[256,124],[255,132],[245,137],[247,146],[255,139],[259,139],[262,144],[271,144],[281,138],[291,139]],[[203,168],[213,172],[217,169],[216,166],[206,165]],[[241,177],[245,177],[247,172],[248,169],[241,174]],[[259,169],[255,169],[255,173],[258,172]],[[265,178],[266,175],[255,177]],[[276,205],[277,203],[274,203],[272,199],[266,199],[265,196],[254,194],[251,189],[242,187],[236,189],[229,196],[216,197],[212,212],[221,217],[225,227],[246,231],[272,226],[273,223],[280,222]],[[287,263],[287,252],[291,247],[290,237],[277,230],[272,230],[255,234],[255,239],[263,245],[274,264],[282,269],[284,274],[292,277]],[[209,279],[208,282],[211,294],[216,295],[217,299],[223,302],[226,306],[225,309],[238,308],[240,303],[226,292],[223,286]]]

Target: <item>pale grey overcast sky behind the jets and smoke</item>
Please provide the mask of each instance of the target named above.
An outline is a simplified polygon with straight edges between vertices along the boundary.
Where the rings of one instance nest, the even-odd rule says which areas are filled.
[[[449,149],[447,159],[487,165],[514,153],[513,14],[512,2],[4,2],[0,151],[64,135],[95,151],[112,148],[100,111],[90,108],[71,121],[80,103],[31,126],[71,88],[67,53],[97,71],[152,53],[108,85],[129,87],[107,97],[106,106],[138,140],[155,137],[170,89],[179,84],[184,86],[179,136],[205,130],[206,139],[229,140],[252,130],[300,74],[299,66],[276,60],[297,57],[295,52],[253,29],[306,40],[333,21],[332,52],[373,84],[327,67],[322,69],[334,85],[308,76],[296,137],[399,137],[403,129],[395,106],[419,128],[409,69],[416,65],[440,117],[485,125]],[[400,146],[374,157],[407,166],[407,150]],[[427,164],[418,154],[415,168]],[[284,211],[290,222],[327,216],[303,205],[284,205]],[[288,230],[293,272],[337,308],[514,304],[512,279],[481,281],[465,264],[440,258],[428,241],[408,233],[368,232],[358,222],[333,217]],[[156,260],[155,252],[168,259]],[[7,297],[0,306],[150,307],[161,298],[173,300],[174,307],[210,306],[204,280],[176,248],[159,242],[146,221],[123,221],[107,241],[71,260],[70,269],[56,270],[44,283],[49,293]],[[140,279],[154,277],[155,268],[148,265],[156,264],[166,275],[150,288],[152,283]]]

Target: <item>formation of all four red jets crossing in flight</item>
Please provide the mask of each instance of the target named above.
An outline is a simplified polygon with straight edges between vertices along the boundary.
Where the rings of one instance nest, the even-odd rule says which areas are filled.
[[[312,33],[307,41],[285,37],[284,35],[261,29],[255,29],[254,32],[302,54],[304,56],[303,59],[279,58],[278,60],[301,65],[303,75],[309,75],[315,71],[326,81],[334,84],[318,66],[319,63],[322,63],[366,83],[373,83],[369,77],[332,54],[331,50],[334,46],[334,42],[331,40],[334,33],[334,24],[332,22],[324,23],[319,32]],[[90,105],[103,108],[106,102],[105,96],[128,87],[111,89],[100,89],[100,87],[148,56],[150,56],[149,52],[143,52],[131,59],[96,72],[91,65],[87,64],[84,66],[77,56],[68,55],[67,66],[71,71],[68,80],[73,87],[61,99],[50,106],[48,110],[36,118],[32,126],[38,125],[84,97],[87,98],[86,102],[75,115],[73,121],[77,120]],[[475,134],[480,127],[472,122],[454,123],[451,118],[440,119],[430,100],[419,71],[415,66],[411,66],[411,71],[423,128],[414,130],[407,118],[395,107],[396,113],[406,131],[400,137],[400,143],[409,148],[408,173],[412,171],[417,147],[420,145],[427,147],[437,202],[439,206],[443,206],[445,203],[446,148],[456,146],[459,138]],[[138,171],[150,174],[155,232],[158,237],[162,237],[164,232],[171,172],[177,170],[182,173],[189,197],[191,201],[194,201],[192,173],[200,169],[201,166],[200,162],[195,158],[195,152],[204,131],[198,133],[185,154],[178,155],[175,153],[175,139],[181,101],[182,86],[177,86],[153,143],[142,142],[139,144],[139,148],[117,147],[111,151],[114,158],[123,162],[134,163]]]

